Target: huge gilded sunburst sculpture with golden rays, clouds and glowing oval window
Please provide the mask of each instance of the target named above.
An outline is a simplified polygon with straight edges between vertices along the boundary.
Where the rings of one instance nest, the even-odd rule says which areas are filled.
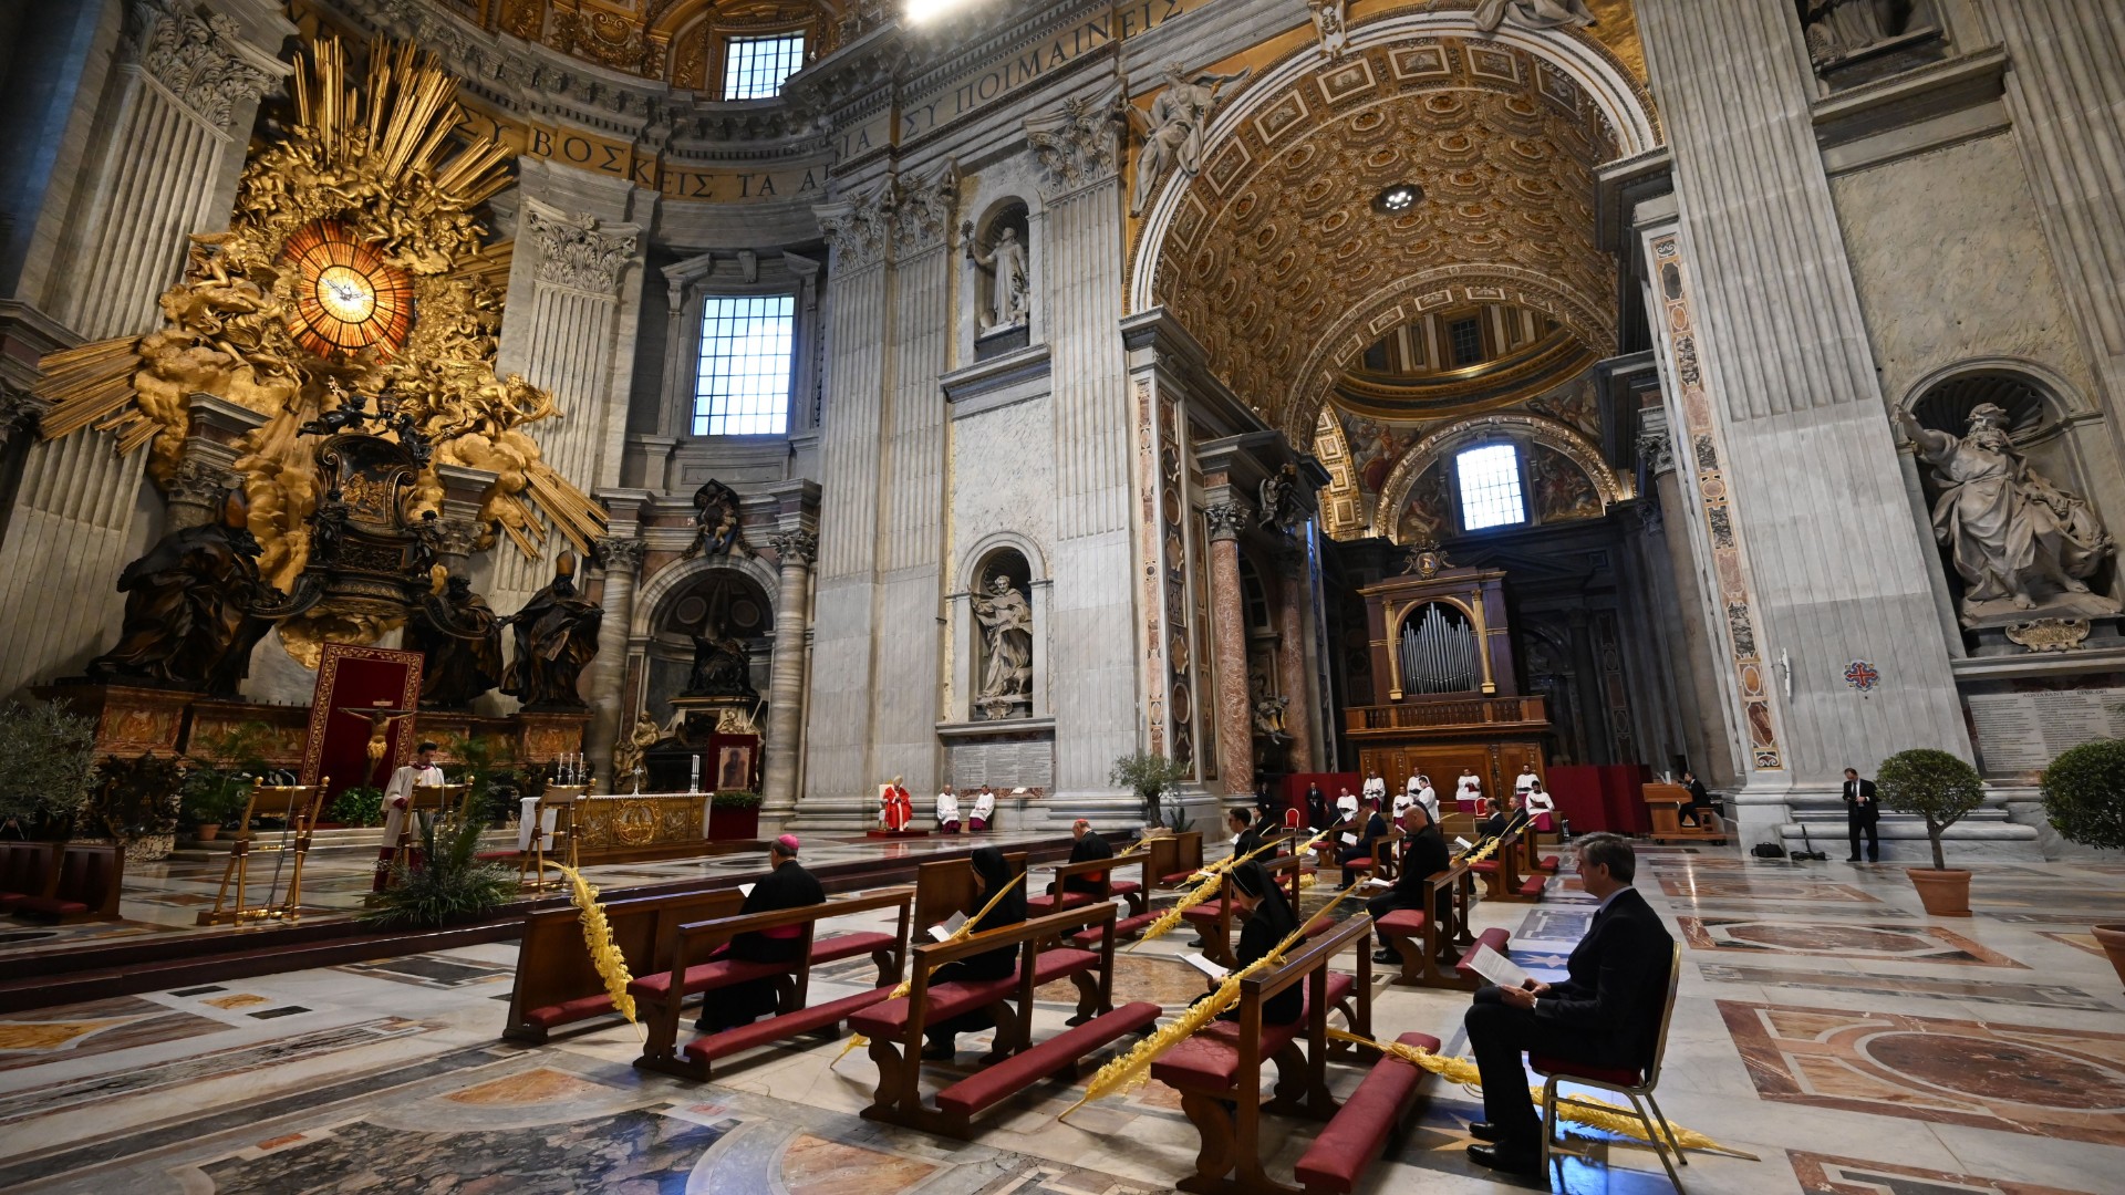
[[[259,574],[280,589],[308,561],[321,500],[298,430],[346,395],[380,395],[434,444],[408,519],[442,502],[434,466],[465,466],[495,474],[480,549],[506,534],[538,557],[546,523],[578,549],[604,534],[606,512],[525,432],[561,415],[552,395],[495,374],[510,247],[484,245],[476,211],[510,183],[510,151],[450,140],[455,87],[412,45],[374,43],[357,81],[340,43],[319,40],[293,77],[295,119],[244,166],[230,230],[191,236],[185,279],[159,300],[164,325],[42,359],[42,436],[110,432],[119,453],[147,447],[149,474],[168,487],[191,393],[264,415],[236,472]],[[372,642],[387,623],[319,608],[280,636],[304,659],[323,638]]]

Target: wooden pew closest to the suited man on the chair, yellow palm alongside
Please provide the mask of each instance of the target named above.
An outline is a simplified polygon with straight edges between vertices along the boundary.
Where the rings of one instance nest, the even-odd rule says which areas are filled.
[[[1239,984],[1232,1021],[1218,1021],[1152,1063],[1152,1078],[1182,1097],[1182,1112],[1196,1127],[1196,1172],[1179,1180],[1192,1193],[1288,1195],[1292,1189],[1262,1167],[1262,1112],[1326,1121],[1328,1093],[1328,963],[1337,950],[1356,948],[1356,989],[1371,997],[1373,919],[1358,914],[1313,942],[1294,948],[1277,967]],[[1307,1008],[1294,1025],[1262,1025],[1262,1002],[1305,984]],[[1311,1048],[1300,1048],[1300,1036]],[[1277,1084],[1262,1104],[1262,1063],[1277,1063]],[[1230,1108],[1230,1110],[1228,1110]],[[1271,1133],[1271,1152],[1277,1135]]]

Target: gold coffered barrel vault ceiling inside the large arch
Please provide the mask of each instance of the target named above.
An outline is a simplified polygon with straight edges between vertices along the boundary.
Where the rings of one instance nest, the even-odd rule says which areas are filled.
[[[1379,45],[1247,113],[1182,198],[1154,293],[1294,442],[1360,353],[1426,310],[1522,304],[1615,351],[1615,262],[1594,240],[1615,134],[1549,62],[1451,36]],[[1424,200],[1375,211],[1394,183]]]

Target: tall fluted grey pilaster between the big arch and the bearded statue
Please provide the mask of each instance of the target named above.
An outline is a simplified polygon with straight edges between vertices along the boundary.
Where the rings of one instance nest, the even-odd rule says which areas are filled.
[[[1740,570],[1719,598],[1755,623],[1766,663],[1794,659],[1794,695],[1766,687],[1776,768],[1753,759],[1749,785],[1776,804],[1789,787],[1830,795],[1847,763],[1906,746],[1968,757],[1932,544],[1904,493],[1791,4],[1645,0],[1638,21],[1674,151],[1694,351],[1726,440]],[[1849,659],[1885,666],[1864,702],[1840,680]]]

